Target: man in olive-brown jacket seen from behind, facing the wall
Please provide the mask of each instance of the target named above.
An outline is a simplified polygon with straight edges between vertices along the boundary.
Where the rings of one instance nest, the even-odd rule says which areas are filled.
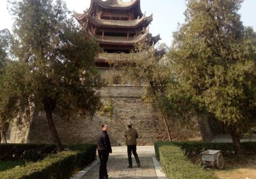
[[[128,162],[129,162],[129,168],[132,168],[132,153],[135,157],[135,160],[138,164],[138,167],[140,167],[140,159],[138,157],[137,153],[137,138],[139,137],[139,134],[135,128],[132,128],[132,123],[127,123],[127,129],[124,132],[124,136],[126,137],[125,143],[127,145],[127,153],[128,153]]]

